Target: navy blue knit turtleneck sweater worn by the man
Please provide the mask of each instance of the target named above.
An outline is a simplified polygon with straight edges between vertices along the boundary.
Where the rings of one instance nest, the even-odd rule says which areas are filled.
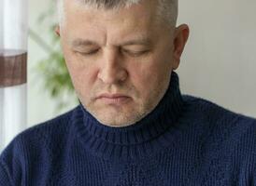
[[[132,126],[81,105],[19,134],[0,157],[1,186],[256,186],[256,120],[181,95],[178,75]]]

